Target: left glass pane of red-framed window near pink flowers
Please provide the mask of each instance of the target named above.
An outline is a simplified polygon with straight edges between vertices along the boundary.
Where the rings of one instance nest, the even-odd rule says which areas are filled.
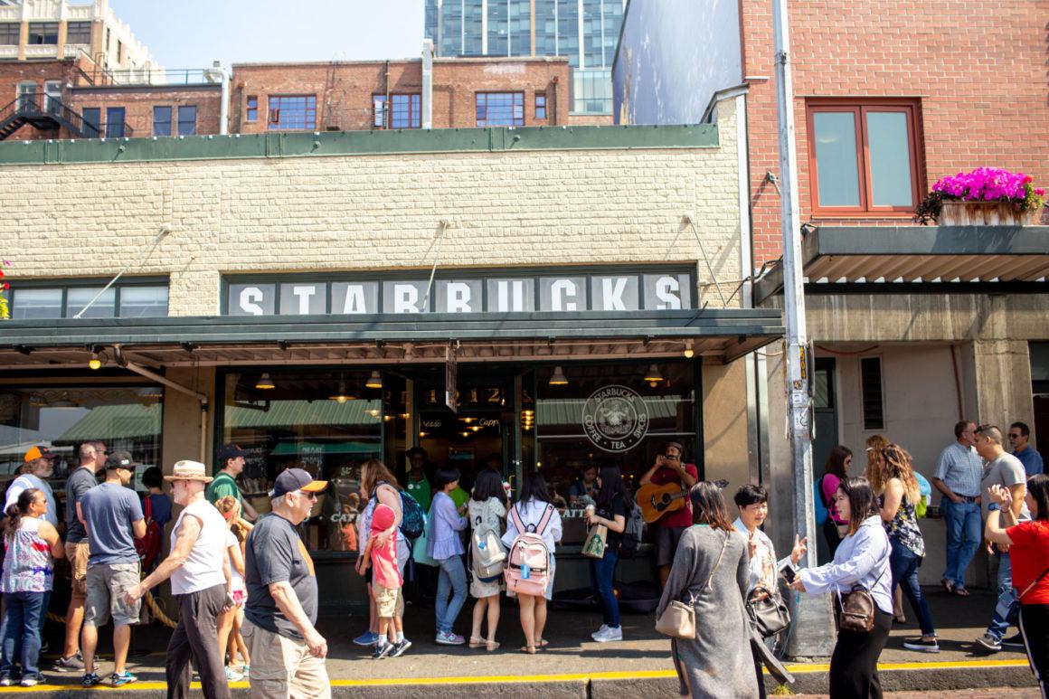
[[[858,207],[856,122],[852,112],[819,111],[813,115],[819,206]]]

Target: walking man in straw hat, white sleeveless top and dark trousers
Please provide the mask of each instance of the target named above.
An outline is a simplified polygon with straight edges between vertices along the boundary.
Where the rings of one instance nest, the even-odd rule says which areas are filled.
[[[178,626],[168,641],[165,678],[168,697],[188,697],[190,660],[197,658],[200,689],[208,699],[229,699],[222,658],[218,654],[216,619],[233,606],[228,594],[230,559],[226,553],[227,526],[222,515],[205,497],[211,481],[205,465],[196,461],[175,462],[171,495],[183,506],[171,530],[171,553],[146,578],[124,594],[127,603],[171,578],[171,592],[178,599]]]

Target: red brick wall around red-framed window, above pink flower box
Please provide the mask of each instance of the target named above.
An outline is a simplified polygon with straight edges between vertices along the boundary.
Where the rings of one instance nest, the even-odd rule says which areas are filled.
[[[765,174],[779,172],[771,3],[741,2],[748,96],[754,264],[780,255],[779,197]],[[812,214],[806,100],[907,97],[920,103],[922,192],[939,177],[980,166],[1024,171],[1049,186],[1045,6],[1020,0],[849,5],[795,0],[789,7],[801,220],[906,225],[909,215],[817,218]],[[1041,87],[1040,87],[1041,86]],[[1044,220],[1049,214],[1044,211]]]

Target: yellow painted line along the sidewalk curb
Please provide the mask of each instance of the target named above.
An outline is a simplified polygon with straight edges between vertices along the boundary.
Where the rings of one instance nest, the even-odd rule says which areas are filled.
[[[1026,668],[1026,660],[949,660],[943,662],[885,662],[879,663],[878,670],[959,670],[976,668]],[[790,664],[786,665],[793,674],[826,673],[830,670],[829,664]],[[394,677],[358,680],[331,680],[331,686],[393,686],[413,684],[484,684],[484,683],[513,683],[522,682],[582,682],[592,680],[620,680],[620,679],[668,679],[677,677],[672,670],[642,670],[637,672],[607,672],[607,673],[573,673],[562,675],[484,675],[467,677]],[[248,682],[230,682],[231,687],[248,689]],[[38,684],[34,687],[0,687],[0,694],[13,692],[55,692],[56,687],[74,689],[67,684]],[[199,682],[193,682],[192,687],[199,690]],[[94,691],[105,692],[107,690],[120,691],[124,689],[133,690],[165,690],[164,682],[135,682],[123,687],[109,687],[99,685]]]

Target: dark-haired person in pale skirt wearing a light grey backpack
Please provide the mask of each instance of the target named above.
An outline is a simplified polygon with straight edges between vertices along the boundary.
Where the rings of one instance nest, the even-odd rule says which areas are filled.
[[[499,536],[507,516],[507,491],[497,471],[486,468],[477,474],[473,494],[468,504],[470,524],[470,594],[477,601],[473,605],[473,630],[470,648],[485,647],[487,651],[499,648],[495,630],[499,626],[499,592],[502,590],[502,569],[506,548]],[[488,616],[488,637],[483,638],[480,627]]]

